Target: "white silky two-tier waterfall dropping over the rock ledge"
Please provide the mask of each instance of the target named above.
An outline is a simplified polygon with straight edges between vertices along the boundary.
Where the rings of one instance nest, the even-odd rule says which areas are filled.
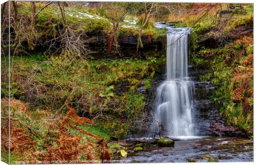
[[[169,137],[195,136],[187,38],[186,33],[167,34],[167,76],[156,89],[154,118],[164,126]]]

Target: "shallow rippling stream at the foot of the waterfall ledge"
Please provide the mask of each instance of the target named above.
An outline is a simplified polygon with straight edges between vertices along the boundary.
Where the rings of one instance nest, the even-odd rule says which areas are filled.
[[[131,163],[171,162],[251,162],[253,161],[253,140],[237,137],[200,137],[198,139],[175,140],[172,147],[144,146],[144,151],[133,152],[128,147],[128,156],[113,160],[127,160]],[[190,161],[189,161],[190,160]]]

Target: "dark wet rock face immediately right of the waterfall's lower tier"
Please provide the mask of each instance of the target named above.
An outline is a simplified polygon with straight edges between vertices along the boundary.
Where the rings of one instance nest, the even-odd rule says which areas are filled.
[[[237,137],[242,132],[236,127],[228,126],[225,123],[225,119],[220,116],[218,110],[215,108],[215,104],[220,105],[230,99],[221,99],[214,104],[210,100],[210,95],[213,90],[218,89],[217,86],[211,84],[211,81],[199,82],[199,75],[201,73],[207,73],[209,71],[194,71],[194,67],[190,68],[191,75],[194,81],[194,120],[197,127],[198,136],[232,136]],[[224,79],[221,81],[225,81]]]

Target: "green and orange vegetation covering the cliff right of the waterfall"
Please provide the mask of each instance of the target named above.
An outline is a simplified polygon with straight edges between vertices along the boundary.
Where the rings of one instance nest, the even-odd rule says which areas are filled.
[[[226,123],[252,137],[253,35],[247,29],[253,27],[253,11],[251,5],[244,7],[243,12],[237,8],[218,9],[215,22],[196,26],[192,30],[190,55],[199,70],[208,70],[199,75],[200,81],[211,81],[218,87],[211,99]]]

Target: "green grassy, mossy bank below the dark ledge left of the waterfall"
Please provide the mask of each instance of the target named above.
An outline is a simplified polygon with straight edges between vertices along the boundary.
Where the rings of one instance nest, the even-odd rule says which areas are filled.
[[[62,54],[49,59],[41,54],[15,56],[11,97],[28,102],[28,110],[36,120],[41,118],[39,111],[47,108],[54,113],[64,101],[71,102],[78,114],[84,113],[89,118],[99,115],[96,121],[100,124],[86,127],[89,132],[109,139],[118,131],[121,138],[130,130],[126,123],[120,127],[122,118],[131,122],[141,115],[145,104],[145,95],[135,94],[137,88],[142,82],[146,90],[151,87],[154,68],[165,65],[162,60],[163,57],[151,61],[136,58],[84,61],[67,59]],[[113,90],[105,92],[110,86]],[[100,97],[102,93],[109,97]],[[67,111],[64,106],[61,112]]]

